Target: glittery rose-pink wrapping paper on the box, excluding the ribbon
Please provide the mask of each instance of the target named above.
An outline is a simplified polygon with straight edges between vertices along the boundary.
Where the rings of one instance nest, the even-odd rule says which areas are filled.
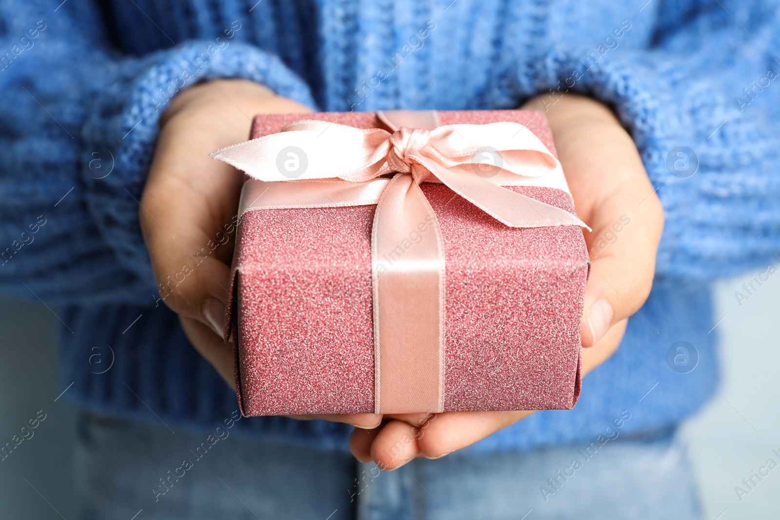
[[[555,154],[541,112],[440,115],[442,124],[525,124]],[[366,112],[258,115],[251,138],[299,119],[382,126]],[[580,228],[509,228],[444,185],[421,187],[445,246],[445,411],[572,408],[590,268]],[[574,212],[559,189],[507,189]],[[245,416],[374,412],[374,209],[250,210],[241,218],[227,316]]]

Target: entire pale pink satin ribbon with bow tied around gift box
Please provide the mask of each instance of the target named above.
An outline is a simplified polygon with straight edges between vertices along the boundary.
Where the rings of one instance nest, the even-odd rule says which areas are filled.
[[[374,409],[441,412],[444,246],[420,183],[442,182],[511,227],[587,226],[566,210],[502,187],[558,182],[568,191],[560,164],[525,126],[515,122],[439,126],[434,111],[377,115],[393,133],[304,120],[211,157],[257,179],[246,182],[239,214],[377,204],[371,234]],[[495,160],[492,168],[473,161],[485,150]],[[287,157],[293,160],[293,170],[300,168],[292,179],[278,167]],[[559,175],[551,176],[552,172]],[[422,238],[417,241],[418,237]]]

